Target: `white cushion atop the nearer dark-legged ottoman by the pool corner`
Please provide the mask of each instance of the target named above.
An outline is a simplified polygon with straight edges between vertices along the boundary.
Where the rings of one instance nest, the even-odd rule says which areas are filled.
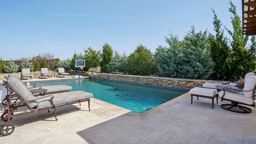
[[[211,88],[192,88],[190,90],[191,94],[197,94],[201,96],[215,96],[217,94],[217,90]]]

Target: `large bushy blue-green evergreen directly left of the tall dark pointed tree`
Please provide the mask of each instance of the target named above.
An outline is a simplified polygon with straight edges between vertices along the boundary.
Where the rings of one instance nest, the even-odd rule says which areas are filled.
[[[195,27],[184,37],[182,49],[184,66],[182,73],[186,78],[206,79],[212,74],[212,59],[210,56],[207,31],[195,32]]]

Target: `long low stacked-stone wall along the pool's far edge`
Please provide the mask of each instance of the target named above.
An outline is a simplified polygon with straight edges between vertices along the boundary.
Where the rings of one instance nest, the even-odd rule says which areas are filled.
[[[163,86],[169,88],[195,88],[202,87],[205,82],[227,84],[227,81],[217,80],[194,80],[183,78],[164,78],[155,76],[132,76],[122,74],[89,74],[91,78],[101,78],[106,80],[116,80],[122,82],[131,82],[136,84],[146,84],[153,86]]]

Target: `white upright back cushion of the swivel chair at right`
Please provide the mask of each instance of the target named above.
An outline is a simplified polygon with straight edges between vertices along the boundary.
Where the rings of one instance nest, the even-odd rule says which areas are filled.
[[[256,86],[256,75],[250,75],[248,76],[248,78],[244,83],[243,91],[254,90],[255,86]],[[244,93],[244,96],[246,96],[247,98],[252,98],[254,91],[243,92],[243,93]]]

